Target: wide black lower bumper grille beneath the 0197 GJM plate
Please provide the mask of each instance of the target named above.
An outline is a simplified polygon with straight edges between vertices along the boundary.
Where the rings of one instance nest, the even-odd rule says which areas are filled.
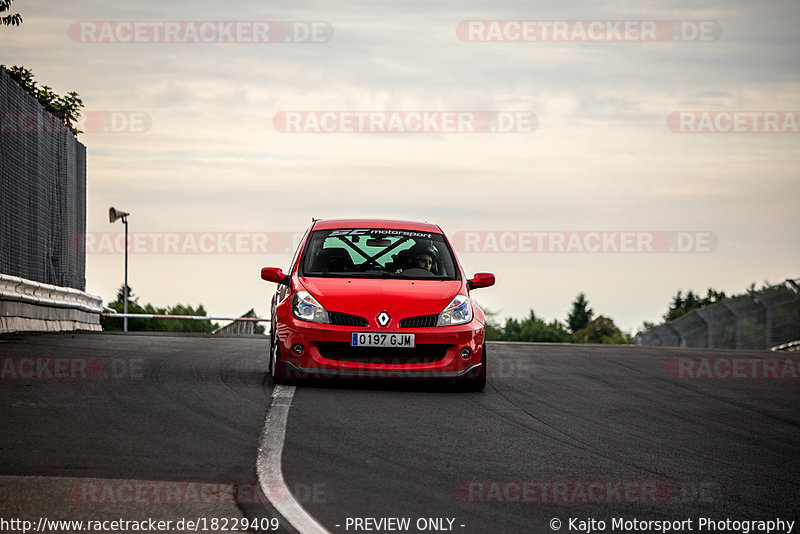
[[[326,341],[317,349],[323,358],[337,361],[403,365],[438,362],[447,354],[450,345],[424,344],[413,349],[393,347],[351,347],[349,343]]]

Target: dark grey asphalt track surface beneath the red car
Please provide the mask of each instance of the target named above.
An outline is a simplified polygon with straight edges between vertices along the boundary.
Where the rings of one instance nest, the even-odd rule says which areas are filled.
[[[0,380],[0,517],[270,517],[270,505],[253,498],[123,502],[119,491],[142,481],[256,487],[272,393],[266,352],[257,337],[0,336],[4,361],[84,358],[100,369],[89,379],[6,372]],[[775,356],[490,344],[483,393],[301,386],[289,408],[284,478],[334,533],[443,531],[418,529],[426,518],[451,519],[459,533],[554,532],[553,518],[561,532],[570,518],[604,520],[607,532],[614,517],[693,519],[695,532],[700,518],[797,521],[800,380],[668,372],[675,358]],[[534,490],[523,498],[525,483]],[[111,493],[98,500],[87,484]],[[556,486],[566,493],[546,489]],[[617,490],[585,495],[597,487]],[[411,527],[352,526],[389,517],[410,518]]]

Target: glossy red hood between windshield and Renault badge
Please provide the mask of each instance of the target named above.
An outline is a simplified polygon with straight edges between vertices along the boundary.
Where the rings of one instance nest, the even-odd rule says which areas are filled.
[[[390,325],[405,317],[440,313],[462,288],[460,280],[385,280],[301,277],[300,284],[328,311],[365,317],[382,311]]]

